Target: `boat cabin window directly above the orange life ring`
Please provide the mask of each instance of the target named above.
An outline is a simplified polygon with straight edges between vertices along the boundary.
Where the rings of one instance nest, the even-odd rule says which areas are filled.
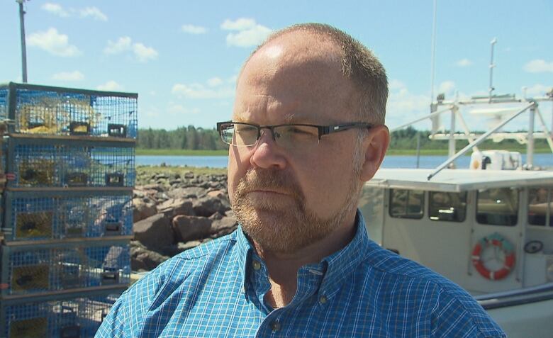
[[[476,221],[489,225],[516,225],[518,218],[518,190],[493,188],[478,191]]]

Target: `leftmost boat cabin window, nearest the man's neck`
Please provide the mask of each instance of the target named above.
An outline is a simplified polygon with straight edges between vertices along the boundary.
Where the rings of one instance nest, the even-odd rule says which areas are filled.
[[[422,190],[391,189],[390,216],[396,218],[423,218],[425,193]]]

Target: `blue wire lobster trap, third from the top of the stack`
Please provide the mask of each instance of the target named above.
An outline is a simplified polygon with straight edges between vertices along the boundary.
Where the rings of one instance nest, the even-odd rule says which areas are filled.
[[[132,192],[6,191],[6,241],[62,240],[133,233]]]

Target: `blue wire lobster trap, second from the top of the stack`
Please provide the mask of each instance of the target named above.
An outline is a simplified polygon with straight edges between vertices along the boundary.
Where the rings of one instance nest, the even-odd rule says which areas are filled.
[[[11,188],[131,187],[134,142],[67,140],[11,135],[7,171]]]

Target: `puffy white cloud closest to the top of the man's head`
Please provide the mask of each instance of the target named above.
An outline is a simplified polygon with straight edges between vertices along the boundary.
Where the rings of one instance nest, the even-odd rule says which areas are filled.
[[[252,18],[239,18],[236,21],[229,19],[221,23],[223,30],[235,30],[237,33],[228,33],[227,45],[236,47],[251,47],[259,45],[272,32],[270,28],[259,25]]]

